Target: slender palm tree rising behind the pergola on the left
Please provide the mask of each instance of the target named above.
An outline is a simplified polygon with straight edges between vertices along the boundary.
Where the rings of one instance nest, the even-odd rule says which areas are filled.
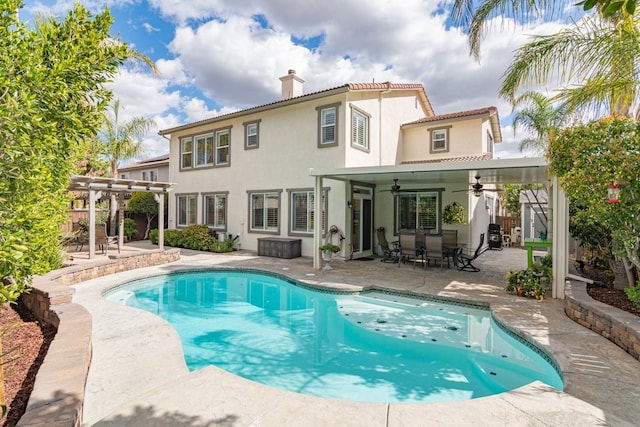
[[[153,120],[145,117],[134,117],[120,123],[120,100],[115,99],[111,110],[104,114],[104,128],[99,135],[103,152],[109,163],[109,173],[112,178],[118,177],[120,161],[128,160],[143,154],[144,149],[140,138],[144,136],[154,124]],[[115,194],[111,194],[110,227],[115,230],[116,212],[118,209]],[[122,209],[120,210],[123,214]]]

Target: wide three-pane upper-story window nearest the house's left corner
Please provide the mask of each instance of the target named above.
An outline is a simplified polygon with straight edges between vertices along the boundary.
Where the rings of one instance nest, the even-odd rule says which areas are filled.
[[[229,164],[230,128],[180,140],[182,169]]]

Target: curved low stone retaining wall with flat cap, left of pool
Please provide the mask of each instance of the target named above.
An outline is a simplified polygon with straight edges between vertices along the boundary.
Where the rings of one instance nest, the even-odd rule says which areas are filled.
[[[180,259],[179,249],[111,255],[108,260],[74,265],[35,277],[21,301],[39,320],[56,327],[56,336],[36,376],[27,410],[18,426],[76,427],[82,423],[84,387],[91,363],[91,314],[72,302],[80,283],[122,271]]]

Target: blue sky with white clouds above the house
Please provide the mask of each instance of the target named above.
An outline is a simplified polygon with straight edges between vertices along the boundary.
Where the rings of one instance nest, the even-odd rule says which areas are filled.
[[[276,101],[279,77],[295,69],[305,92],[345,83],[420,83],[437,114],[495,105],[502,124],[501,158],[521,157],[511,107],[498,97],[500,77],[514,49],[531,34],[561,24],[496,22],[469,56],[467,39],[452,27],[448,0],[85,0],[91,11],[108,6],[112,34],[151,58],[123,69],[112,89],[123,118],[145,116],[145,158],[168,152],[161,129]],[[64,16],[73,0],[29,0],[20,19],[35,12]],[[504,29],[501,29],[504,27]]]

